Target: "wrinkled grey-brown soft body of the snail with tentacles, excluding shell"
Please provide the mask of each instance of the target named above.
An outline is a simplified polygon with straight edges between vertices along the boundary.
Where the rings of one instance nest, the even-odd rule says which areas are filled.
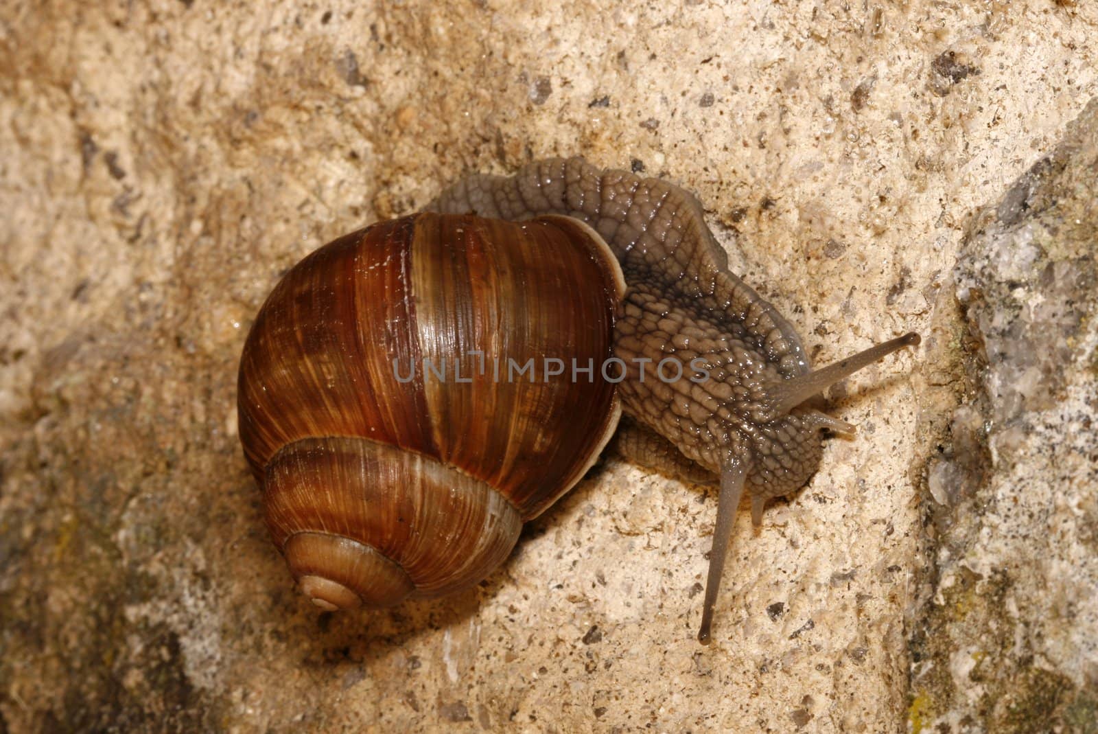
[[[802,407],[851,371],[903,346],[908,334],[818,372],[796,332],[770,303],[728,271],[727,256],[687,191],[661,179],[601,170],[580,158],[530,164],[514,177],[473,175],[445,190],[429,210],[509,220],[544,214],[580,219],[595,229],[621,264],[628,289],[615,323],[614,354],[650,367],[672,357],[691,376],[694,359],[708,379],[663,382],[637,369],[619,386],[626,415],[646,426],[620,443],[634,456],[687,479],[720,477],[720,500],[702,629],[709,642],[713,607],[740,493],[752,520],[765,501],[799,489],[819,466],[821,432],[853,426]],[[658,434],[657,435],[653,435]],[[669,442],[659,445],[659,437]],[[671,448],[673,446],[674,448]],[[641,460],[645,459],[641,457]]]

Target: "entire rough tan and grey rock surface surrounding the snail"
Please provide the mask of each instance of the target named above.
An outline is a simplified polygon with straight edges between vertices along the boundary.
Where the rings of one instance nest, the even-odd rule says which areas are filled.
[[[1098,90],[1098,9],[531,8],[0,7],[0,731],[1094,731],[1094,177],[1010,181]],[[616,461],[481,587],[317,613],[235,436],[250,319],[323,242],[576,153],[696,191],[817,363],[925,349],[740,518],[709,648],[715,498]]]

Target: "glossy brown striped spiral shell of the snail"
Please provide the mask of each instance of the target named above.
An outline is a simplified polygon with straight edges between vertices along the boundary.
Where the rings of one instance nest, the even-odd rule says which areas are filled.
[[[506,558],[617,425],[600,365],[624,289],[598,235],[553,216],[418,214],[294,266],[248,334],[238,410],[303,591],[385,607]]]

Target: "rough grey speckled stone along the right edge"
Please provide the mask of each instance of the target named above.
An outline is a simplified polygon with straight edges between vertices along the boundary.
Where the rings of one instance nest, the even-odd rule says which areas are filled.
[[[942,292],[968,385],[928,466],[915,732],[1098,731],[1096,182],[1098,100],[972,218]]]

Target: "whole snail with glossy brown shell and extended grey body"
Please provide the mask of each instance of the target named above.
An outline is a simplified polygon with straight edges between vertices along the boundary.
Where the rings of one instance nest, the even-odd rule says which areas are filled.
[[[294,266],[244,348],[240,438],[302,590],[325,609],[383,607],[484,578],[624,412],[627,458],[719,485],[708,644],[744,488],[759,526],[768,499],[816,471],[822,434],[854,431],[805,402],[918,344],[814,371],[691,193],[548,159],[469,176]],[[527,357],[545,363],[535,381],[501,378]]]

